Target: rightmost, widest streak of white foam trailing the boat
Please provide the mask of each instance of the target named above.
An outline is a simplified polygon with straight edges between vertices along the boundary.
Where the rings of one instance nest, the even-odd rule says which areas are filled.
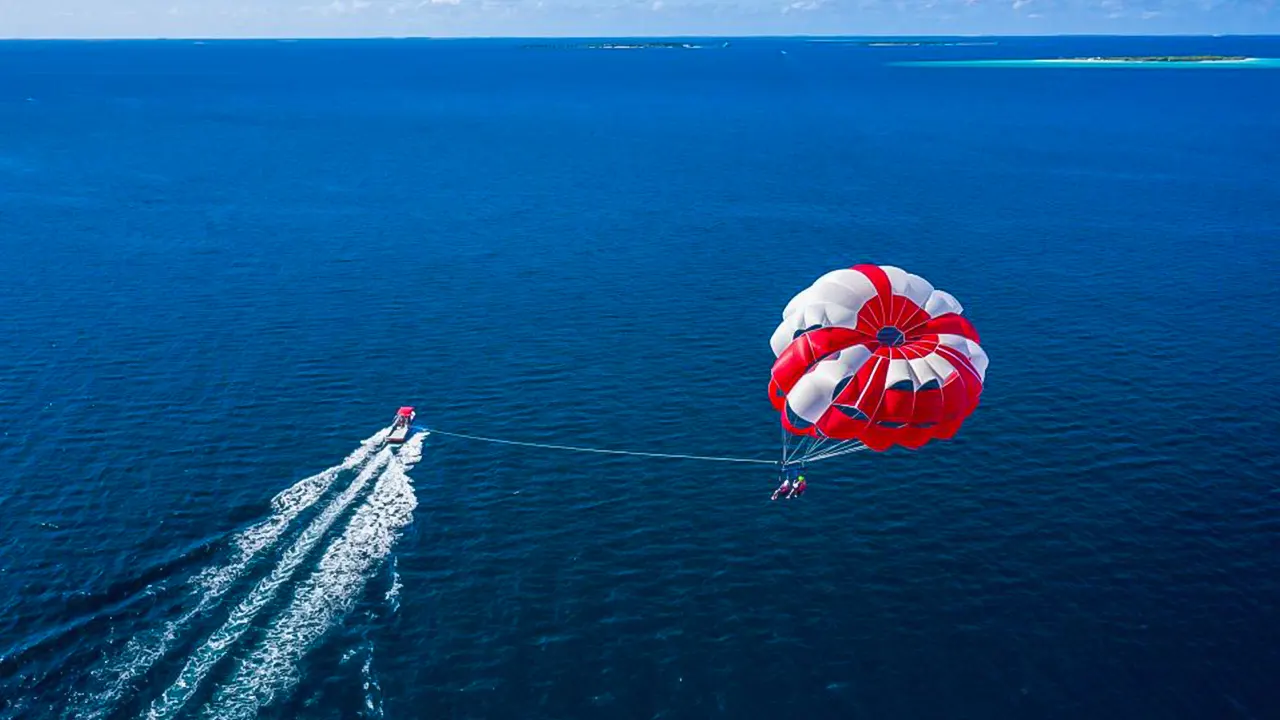
[[[424,438],[417,434],[404,443],[261,644],[214,694],[206,717],[256,717],[261,707],[297,683],[298,662],[351,611],[365,583],[390,553],[399,530],[412,521],[417,497],[406,471],[421,459]]]

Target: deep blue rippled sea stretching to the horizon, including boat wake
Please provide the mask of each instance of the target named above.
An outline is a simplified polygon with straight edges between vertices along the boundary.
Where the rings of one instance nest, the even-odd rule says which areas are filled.
[[[1280,70],[897,64],[1280,38],[699,42],[0,44],[0,717],[1280,717]],[[772,459],[858,263],[954,441],[362,450]]]

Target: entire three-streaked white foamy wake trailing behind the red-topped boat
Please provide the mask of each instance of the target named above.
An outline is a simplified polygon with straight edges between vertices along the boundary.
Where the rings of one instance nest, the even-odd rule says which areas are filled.
[[[220,708],[225,708],[227,716],[241,716],[236,715],[238,708],[257,706],[256,688],[270,688],[269,697],[275,697],[291,687],[282,678],[289,676],[293,662],[346,615],[367,578],[390,553],[399,529],[412,520],[416,497],[406,471],[421,460],[426,433],[417,433],[403,445],[392,445],[387,442],[390,430],[375,433],[339,465],[275,496],[266,519],[232,538],[230,556],[224,562],[189,580],[195,603],[161,628],[132,638],[116,657],[97,669],[92,674],[97,685],[95,692],[86,693],[86,700],[68,716],[102,719],[123,710],[125,700],[131,705],[138,702],[141,698],[131,700],[131,696],[146,692],[146,685],[152,684],[143,679],[164,671],[157,670],[161,660],[173,655],[179,643],[191,643],[195,626],[210,619],[224,596],[234,597],[238,592],[243,592],[239,602],[202,642],[193,643],[196,647],[186,659],[179,664],[174,662],[177,659],[164,662],[164,666],[180,670],[164,692],[146,693],[154,700],[145,716],[177,716],[201,687],[211,684],[211,675],[225,674],[225,670],[215,673],[215,667],[251,629],[265,633],[262,642],[219,688],[206,712],[220,717],[224,716]],[[338,479],[351,471],[357,473],[355,479],[342,487]],[[330,496],[332,492],[337,495]],[[326,497],[332,498],[321,502]],[[315,516],[300,525],[298,519],[312,507],[319,507]],[[344,516],[349,516],[347,527],[333,539]],[[291,543],[282,542],[287,536]],[[274,566],[255,571],[253,575],[262,575],[250,588],[246,583],[251,570],[275,555],[278,546],[283,551],[273,560]],[[320,552],[317,569],[298,584],[300,571]],[[285,593],[293,585],[297,591],[292,603],[279,618],[271,618],[274,610],[268,610],[275,607],[276,598],[288,598]],[[233,593],[236,588],[247,589]]]

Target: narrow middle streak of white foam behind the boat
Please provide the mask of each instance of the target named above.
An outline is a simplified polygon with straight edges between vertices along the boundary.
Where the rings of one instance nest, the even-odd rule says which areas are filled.
[[[280,562],[271,570],[271,574],[262,578],[257,585],[232,610],[221,628],[214,632],[202,646],[187,659],[178,679],[169,685],[169,689],[151,703],[147,717],[172,717],[191,700],[191,696],[204,682],[205,676],[221,660],[230,647],[244,634],[257,614],[275,597],[280,585],[287,583],[293,573],[307,559],[316,543],[324,539],[333,523],[356,500],[369,480],[392,460],[392,450],[384,448],[374,460],[366,465],[356,479],[342,495],[335,497],[320,515],[298,536],[298,538],[284,551]]]

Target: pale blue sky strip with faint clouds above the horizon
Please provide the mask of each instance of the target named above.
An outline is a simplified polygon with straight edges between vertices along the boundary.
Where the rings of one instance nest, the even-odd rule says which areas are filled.
[[[1280,33],[1280,0],[0,0],[0,37]]]

